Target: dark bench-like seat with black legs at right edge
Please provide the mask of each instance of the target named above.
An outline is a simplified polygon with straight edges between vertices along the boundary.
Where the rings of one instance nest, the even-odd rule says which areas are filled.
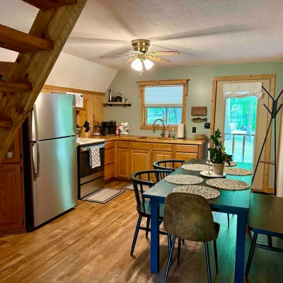
[[[253,192],[250,195],[250,208],[248,213],[248,229],[253,231],[253,240],[248,253],[248,262],[245,275],[250,272],[255,248],[263,248],[283,253],[282,248],[272,246],[272,236],[283,238],[283,198],[274,195]],[[258,234],[267,235],[267,245],[258,244]]]

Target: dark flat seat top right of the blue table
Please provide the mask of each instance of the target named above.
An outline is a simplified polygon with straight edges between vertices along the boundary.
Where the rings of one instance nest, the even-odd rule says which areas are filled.
[[[248,226],[283,236],[283,197],[251,194]]]

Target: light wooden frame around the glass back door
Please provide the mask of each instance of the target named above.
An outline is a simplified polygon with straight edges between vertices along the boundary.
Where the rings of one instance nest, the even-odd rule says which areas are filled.
[[[262,80],[262,79],[270,79],[270,95],[272,97],[275,96],[275,74],[262,74],[262,75],[245,75],[245,76],[214,76],[212,83],[212,114],[210,118],[210,134],[214,134],[215,130],[215,110],[216,110],[216,91],[217,91],[217,82],[218,81],[245,81],[245,80]],[[268,99],[268,108],[272,110],[272,101]],[[266,129],[268,123],[270,122],[270,115],[267,118]],[[270,145],[271,145],[271,133],[269,132],[267,136],[267,141],[265,144],[265,158],[264,160],[270,160]],[[263,184],[262,190],[263,192],[270,192],[273,188],[268,187],[268,173],[269,173],[270,165],[265,163],[263,167]]]

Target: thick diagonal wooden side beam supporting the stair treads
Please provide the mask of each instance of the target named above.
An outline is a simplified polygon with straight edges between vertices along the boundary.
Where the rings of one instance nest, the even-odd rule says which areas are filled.
[[[18,54],[16,64],[11,71],[13,83],[31,83],[33,89],[25,93],[13,93],[0,96],[0,120],[12,120],[10,129],[0,128],[0,163],[13,143],[16,132],[33,108],[47,77],[59,57],[71,30],[78,21],[87,0],[78,0],[77,4],[39,11],[30,35],[45,35],[46,40],[54,42],[52,50]]]

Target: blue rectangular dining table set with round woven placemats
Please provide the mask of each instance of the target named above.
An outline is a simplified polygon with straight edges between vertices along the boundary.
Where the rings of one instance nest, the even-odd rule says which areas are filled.
[[[187,164],[204,164],[205,160],[190,159]],[[251,163],[238,163],[237,168],[251,169]],[[204,187],[211,187],[207,185],[206,178],[200,175],[199,171],[187,171],[182,167],[177,168],[171,174],[181,175],[196,175],[203,179],[203,182],[198,184]],[[226,175],[225,178],[242,180],[251,184],[251,175]],[[161,180],[156,185],[143,193],[144,198],[150,200],[151,206],[151,273],[159,272],[159,204],[164,204],[168,194],[173,192],[176,185],[168,183],[166,180]],[[237,216],[236,224],[236,256],[235,256],[235,277],[234,282],[242,283],[244,278],[244,264],[245,264],[245,241],[246,241],[246,227],[248,221],[248,209],[250,202],[250,188],[247,190],[219,190],[219,197],[208,200],[213,212],[221,212],[226,214],[234,214]]]

